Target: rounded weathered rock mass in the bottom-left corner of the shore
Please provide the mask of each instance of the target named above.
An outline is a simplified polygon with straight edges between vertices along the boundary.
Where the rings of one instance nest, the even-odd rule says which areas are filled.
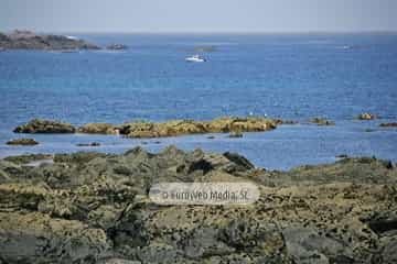
[[[111,246],[100,229],[39,212],[0,212],[0,238],[6,263],[95,262]]]

